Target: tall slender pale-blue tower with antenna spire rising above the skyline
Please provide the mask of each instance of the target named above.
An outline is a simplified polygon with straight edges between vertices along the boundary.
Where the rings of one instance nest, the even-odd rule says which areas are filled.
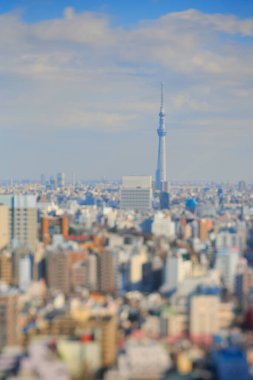
[[[157,129],[159,137],[158,142],[158,159],[156,169],[156,189],[163,190],[163,184],[167,180],[166,173],[166,127],[165,127],[165,112],[163,106],[163,84],[161,83],[161,106],[159,112],[159,127]]]

